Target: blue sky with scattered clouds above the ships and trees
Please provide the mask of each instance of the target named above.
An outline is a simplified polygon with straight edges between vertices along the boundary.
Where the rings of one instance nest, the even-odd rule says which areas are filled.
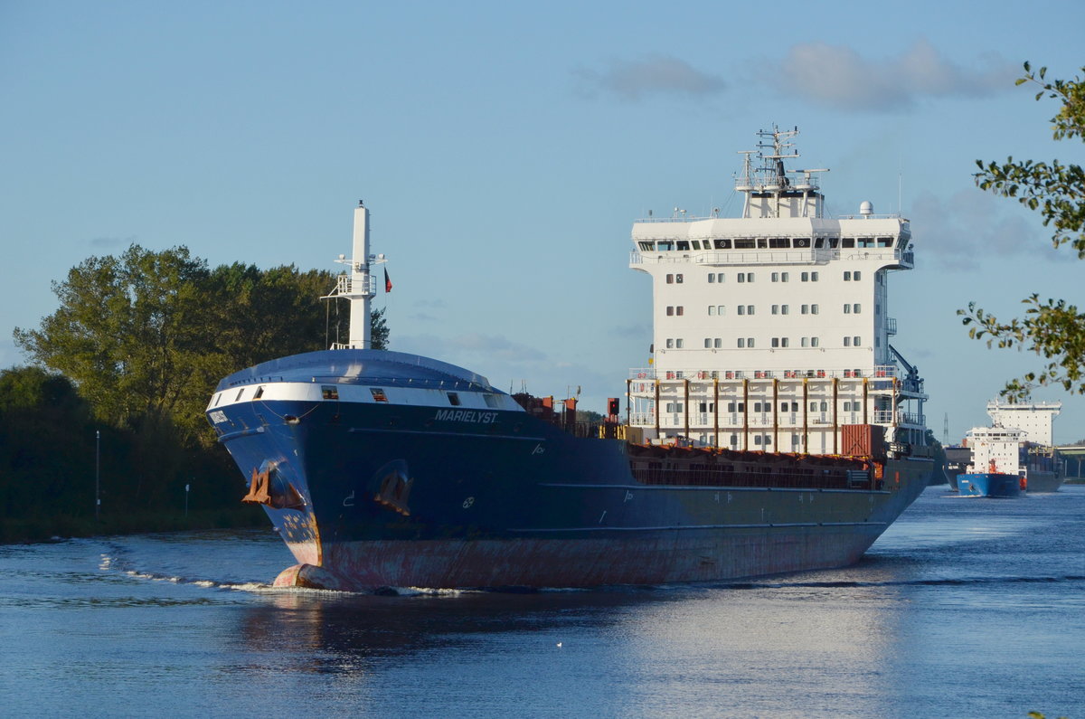
[[[394,7],[393,7],[394,4]],[[982,8],[982,9],[981,9]],[[372,211],[392,349],[536,394],[624,391],[651,342],[628,268],[649,210],[740,207],[739,150],[797,125],[830,211],[899,207],[917,269],[891,278],[894,344],[919,365],[928,425],[987,422],[1037,365],[955,315],[1032,292],[1081,305],[1085,264],[974,161],[1082,163],[1021,63],[1085,65],[1080,1],[299,3],[0,1],[0,367],[52,280],[129,243],[212,265],[336,269]],[[1056,440],[1085,437],[1058,390]]]

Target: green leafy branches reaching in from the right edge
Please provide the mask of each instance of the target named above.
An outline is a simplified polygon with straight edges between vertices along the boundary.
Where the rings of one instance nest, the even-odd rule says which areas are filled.
[[[1050,121],[1054,138],[1085,140],[1085,81],[1080,77],[1048,81],[1046,67],[1034,73],[1029,63],[1024,63],[1024,72],[1018,85],[1035,84],[1041,88],[1036,100],[1046,97],[1061,103]],[[1070,244],[1078,258],[1085,258],[1085,171],[1081,165],[1058,160],[1014,161],[1012,156],[1005,163],[984,164],[978,160],[976,165],[980,172],[974,177],[981,189],[1017,198],[1030,210],[1038,211],[1044,225],[1055,228],[1054,245]],[[1085,314],[1065,300],[1041,300],[1035,293],[1022,303],[1026,305],[1024,317],[1009,321],[983,311],[975,302],[957,311],[969,326],[969,337],[985,339],[987,346],[1023,348],[1043,357],[1045,364],[1038,371],[1008,381],[1003,393],[1023,398],[1036,384],[1061,384],[1067,391],[1085,393]]]

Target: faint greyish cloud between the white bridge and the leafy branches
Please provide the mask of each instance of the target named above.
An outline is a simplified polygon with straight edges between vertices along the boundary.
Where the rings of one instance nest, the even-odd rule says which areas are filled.
[[[988,256],[1059,261],[1035,223],[1011,214],[1005,202],[978,189],[960,190],[948,201],[923,192],[909,213],[916,243],[924,255],[937,256],[943,267],[958,270],[976,270]]]

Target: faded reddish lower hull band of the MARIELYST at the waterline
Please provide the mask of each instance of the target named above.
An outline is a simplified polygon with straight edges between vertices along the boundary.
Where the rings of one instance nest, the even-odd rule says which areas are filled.
[[[885,526],[719,531],[651,537],[372,541],[324,547],[322,566],[283,570],[276,586],[365,591],[600,586],[704,582],[854,564]]]

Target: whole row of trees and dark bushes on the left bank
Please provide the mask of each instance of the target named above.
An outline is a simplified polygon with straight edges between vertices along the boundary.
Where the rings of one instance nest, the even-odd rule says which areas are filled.
[[[107,529],[171,527],[186,500],[204,525],[258,521],[203,409],[233,371],[345,340],[335,280],[133,244],[54,281],[58,310],[14,331],[31,366],[0,370],[0,541],[93,529],[95,457]]]

